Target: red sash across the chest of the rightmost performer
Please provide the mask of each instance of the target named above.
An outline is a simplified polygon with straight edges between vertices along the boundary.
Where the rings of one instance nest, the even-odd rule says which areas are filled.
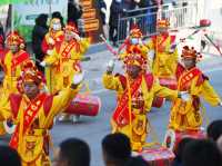
[[[182,90],[185,87],[188,87],[189,82],[196,76],[200,76],[201,74],[201,70],[199,70],[198,68],[193,68],[186,74],[182,75],[179,80],[179,89]]]

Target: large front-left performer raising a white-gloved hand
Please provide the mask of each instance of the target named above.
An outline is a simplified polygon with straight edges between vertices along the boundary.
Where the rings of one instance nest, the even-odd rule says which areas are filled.
[[[49,141],[53,118],[63,111],[80,88],[83,75],[73,77],[70,87],[59,95],[41,91],[42,77],[33,67],[24,69],[19,81],[20,94],[11,94],[9,101],[0,106],[0,118],[17,124],[10,146],[18,150],[22,166],[49,166]]]

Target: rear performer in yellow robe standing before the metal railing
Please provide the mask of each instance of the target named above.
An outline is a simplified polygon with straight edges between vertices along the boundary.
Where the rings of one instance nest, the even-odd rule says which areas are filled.
[[[154,50],[152,62],[153,75],[158,78],[172,78],[178,67],[178,50],[175,36],[168,32],[170,22],[158,20],[158,35],[148,42],[148,48]]]

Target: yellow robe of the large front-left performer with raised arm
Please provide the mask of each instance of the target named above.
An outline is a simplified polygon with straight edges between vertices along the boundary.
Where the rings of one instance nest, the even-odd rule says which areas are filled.
[[[46,153],[43,147],[46,146],[44,138],[49,138],[49,129],[51,129],[53,124],[53,118],[59,113],[63,111],[69,102],[77,95],[79,89],[67,88],[60,91],[59,95],[54,96],[52,99],[51,107],[49,108],[48,114],[44,113],[43,104],[38,110],[38,114],[31,124],[31,127],[22,134],[23,125],[23,115],[24,108],[31,102],[29,98],[23,95],[19,111],[17,117],[13,117],[14,124],[19,124],[19,145],[18,153],[22,159],[22,166],[50,166],[49,154]],[[12,117],[10,102],[7,102],[4,106],[0,106],[0,119],[8,119]]]

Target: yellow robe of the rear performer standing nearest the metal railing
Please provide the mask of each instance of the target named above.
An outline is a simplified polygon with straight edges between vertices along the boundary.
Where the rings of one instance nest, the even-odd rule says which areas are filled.
[[[173,78],[178,66],[178,50],[175,49],[172,53],[170,52],[170,36],[162,43],[162,46],[160,45],[160,47],[162,48],[159,48],[157,46],[159,46],[163,38],[161,36],[158,36],[157,38],[157,40],[151,39],[147,43],[147,47],[149,49],[153,49],[155,51],[155,56],[152,62],[153,75],[158,78]]]

